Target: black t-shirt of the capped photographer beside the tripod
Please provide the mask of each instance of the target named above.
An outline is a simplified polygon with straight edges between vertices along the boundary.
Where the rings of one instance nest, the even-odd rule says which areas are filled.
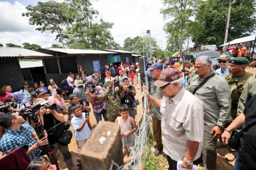
[[[58,114],[62,114],[61,110],[58,107],[55,110],[57,111]],[[58,125],[59,123],[61,123],[52,114],[44,115],[43,117],[44,117],[44,128],[46,131]],[[52,128],[51,130],[47,131],[49,143],[50,144],[57,143],[57,140],[61,137],[63,131],[64,131],[63,123],[56,126],[56,128]]]

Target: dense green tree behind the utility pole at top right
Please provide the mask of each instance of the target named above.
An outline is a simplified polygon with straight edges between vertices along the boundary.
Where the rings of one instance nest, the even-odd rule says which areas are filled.
[[[205,6],[204,27],[198,30],[201,34],[193,35],[192,41],[195,44],[221,45],[224,43],[229,0],[208,0]],[[255,29],[256,1],[232,0],[227,41],[248,36]]]

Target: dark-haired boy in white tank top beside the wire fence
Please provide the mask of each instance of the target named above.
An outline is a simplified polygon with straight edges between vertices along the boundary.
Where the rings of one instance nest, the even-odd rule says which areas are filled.
[[[116,118],[115,123],[120,125],[123,149],[126,150],[127,156],[129,156],[131,152],[130,147],[133,147],[135,143],[134,132],[137,130],[137,126],[134,119],[129,116],[129,110],[126,104],[119,107],[119,114],[121,116]]]

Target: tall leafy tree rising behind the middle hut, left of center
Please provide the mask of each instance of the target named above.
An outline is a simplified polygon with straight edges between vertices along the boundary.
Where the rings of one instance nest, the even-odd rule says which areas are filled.
[[[67,29],[68,45],[72,48],[104,49],[119,48],[110,33],[113,23],[98,19],[99,12],[94,10],[90,0],[68,0],[70,15],[74,22]]]

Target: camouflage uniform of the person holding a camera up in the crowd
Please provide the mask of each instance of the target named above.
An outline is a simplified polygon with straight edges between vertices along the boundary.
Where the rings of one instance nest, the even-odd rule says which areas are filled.
[[[115,90],[113,87],[109,86],[101,95],[102,99],[106,102],[108,110],[108,121],[110,122],[115,122],[119,115],[119,94],[123,91],[123,86],[121,84],[115,87]]]

